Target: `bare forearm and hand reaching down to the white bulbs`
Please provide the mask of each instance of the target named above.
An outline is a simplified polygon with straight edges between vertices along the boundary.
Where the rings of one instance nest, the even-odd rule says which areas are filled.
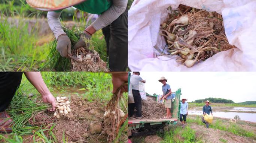
[[[52,93],[49,91],[40,72],[24,72],[28,81],[36,88],[36,90],[42,95],[43,102],[48,102],[52,104],[52,109],[49,111],[55,110],[55,98],[52,96]]]

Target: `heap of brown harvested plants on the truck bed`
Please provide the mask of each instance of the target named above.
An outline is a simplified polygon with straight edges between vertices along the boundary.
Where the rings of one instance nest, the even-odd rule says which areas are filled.
[[[147,101],[141,101],[142,109],[141,114],[145,119],[159,119],[166,116],[164,104],[158,103],[151,98]]]

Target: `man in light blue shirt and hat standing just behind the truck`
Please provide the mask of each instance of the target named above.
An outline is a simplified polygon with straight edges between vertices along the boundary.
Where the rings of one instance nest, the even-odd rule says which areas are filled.
[[[188,99],[182,98],[182,102],[180,102],[180,121],[182,122],[182,127],[185,127],[186,118],[188,115]],[[183,119],[182,119],[183,117]]]

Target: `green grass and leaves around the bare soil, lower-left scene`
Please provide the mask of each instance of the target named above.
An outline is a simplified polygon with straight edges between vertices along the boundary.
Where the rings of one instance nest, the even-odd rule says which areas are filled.
[[[104,108],[112,97],[113,86],[110,73],[42,72],[41,74],[55,97],[67,96],[69,99],[73,99],[72,97],[76,96],[80,99],[86,99],[88,103],[99,102],[101,108]],[[120,107],[125,114],[127,113],[127,105],[125,104],[127,98],[127,94],[124,94],[124,98],[120,101]],[[14,121],[13,133],[0,134],[0,142],[22,143],[28,142],[28,140],[30,142],[58,142],[54,132],[56,123],[30,124],[30,119],[34,121],[38,112],[45,112],[49,107],[51,107],[49,104],[42,103],[40,94],[23,75],[21,86],[7,109]],[[49,114],[51,115],[51,113]],[[122,128],[124,127],[126,125],[122,126]],[[121,130],[120,134],[124,133],[125,130]],[[68,140],[63,132],[63,142]]]

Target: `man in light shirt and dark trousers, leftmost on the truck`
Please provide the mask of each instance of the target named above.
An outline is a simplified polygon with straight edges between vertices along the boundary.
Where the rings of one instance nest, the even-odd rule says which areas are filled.
[[[132,119],[134,115],[134,108],[136,109],[136,118],[142,118],[141,116],[141,96],[139,91],[139,83],[143,82],[146,83],[146,80],[143,80],[140,77],[140,72],[132,72],[131,75],[131,88],[132,88],[132,95],[134,99],[134,103],[128,105],[128,114],[129,118]]]

